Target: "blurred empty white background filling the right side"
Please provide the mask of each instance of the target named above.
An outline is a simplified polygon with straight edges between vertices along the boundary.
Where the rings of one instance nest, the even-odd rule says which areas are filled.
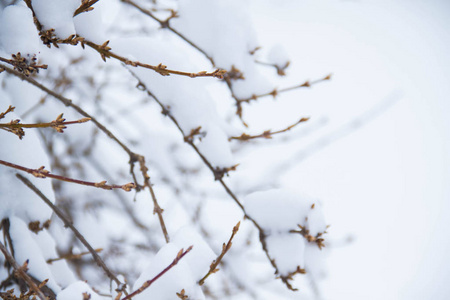
[[[246,116],[317,124],[282,182],[323,201],[322,297],[449,299],[450,2],[257,0],[252,11],[261,44],[291,59],[280,87],[333,73]]]

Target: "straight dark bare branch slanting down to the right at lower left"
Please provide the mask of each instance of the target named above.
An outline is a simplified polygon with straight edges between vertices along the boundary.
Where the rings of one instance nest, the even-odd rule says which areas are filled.
[[[56,207],[38,188],[36,188],[31,181],[29,181],[27,178],[23,177],[20,174],[16,174],[16,177],[19,178],[28,188],[30,188],[33,192],[36,193],[44,202],[47,204],[53,212],[63,221],[64,227],[69,227],[72,232],[75,234],[77,239],[89,250],[92,257],[94,258],[95,262],[98,266],[100,266],[106,273],[106,275],[113,280],[122,291],[126,293],[126,284],[122,283],[114,273],[111,272],[111,270],[106,266],[105,262],[102,260],[102,258],[97,254],[95,249],[86,241],[84,236],[78,231],[78,229],[73,226],[73,223],[69,221],[69,219],[63,214],[63,212]]]

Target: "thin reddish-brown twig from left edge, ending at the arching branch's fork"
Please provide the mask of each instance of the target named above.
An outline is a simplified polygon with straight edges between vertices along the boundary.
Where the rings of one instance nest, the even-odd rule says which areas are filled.
[[[116,184],[108,185],[108,184],[106,184],[106,181],[90,182],[90,181],[73,179],[73,178],[69,178],[69,177],[65,177],[65,176],[61,176],[61,175],[55,175],[55,174],[51,174],[50,171],[45,170],[45,167],[43,167],[43,166],[40,167],[39,169],[30,169],[30,168],[19,166],[19,165],[16,165],[16,164],[4,161],[4,160],[0,160],[0,165],[4,165],[6,167],[10,167],[10,168],[14,168],[17,170],[27,172],[37,178],[50,177],[50,178],[61,180],[61,181],[66,181],[66,182],[71,182],[71,183],[76,183],[76,184],[81,184],[81,185],[86,185],[86,186],[92,186],[92,187],[101,188],[101,189],[105,189],[105,190],[122,189],[124,191],[129,192],[129,191],[131,191],[131,189],[133,189],[135,187],[134,183],[127,183],[124,185],[116,185]]]

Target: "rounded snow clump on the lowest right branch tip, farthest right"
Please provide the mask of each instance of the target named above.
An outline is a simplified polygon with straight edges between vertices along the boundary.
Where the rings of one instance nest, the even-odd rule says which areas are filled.
[[[313,206],[309,197],[283,189],[255,192],[244,198],[247,215],[263,228],[269,255],[281,275],[295,272],[297,267],[304,268],[306,263],[307,240],[289,231],[299,230],[298,225],[311,230],[312,236],[325,231],[323,213],[316,205]],[[316,244],[312,245],[319,249]]]

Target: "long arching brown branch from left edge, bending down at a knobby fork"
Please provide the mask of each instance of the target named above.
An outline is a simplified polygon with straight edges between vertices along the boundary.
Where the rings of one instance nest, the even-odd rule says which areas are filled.
[[[156,200],[156,197],[155,197],[155,194],[153,192],[152,185],[150,183],[150,176],[147,173],[148,169],[145,167],[145,158],[144,158],[144,156],[131,151],[130,148],[128,148],[122,141],[120,141],[109,129],[107,129],[105,127],[105,125],[100,123],[95,117],[93,117],[92,115],[88,114],[81,107],[79,107],[78,105],[74,104],[72,100],[70,100],[68,98],[65,98],[64,96],[62,96],[62,95],[60,95],[60,94],[50,90],[49,88],[45,87],[44,85],[40,84],[39,82],[37,82],[33,78],[29,78],[29,77],[27,77],[27,76],[17,72],[16,70],[11,69],[11,68],[9,68],[9,67],[7,67],[5,65],[0,64],[0,68],[4,68],[7,73],[12,74],[12,75],[14,75],[16,77],[19,77],[22,80],[27,81],[28,83],[30,83],[30,84],[34,85],[35,87],[41,89],[42,91],[46,92],[47,94],[55,97],[58,101],[63,103],[65,106],[73,108],[80,115],[91,119],[91,121],[97,126],[98,129],[103,131],[103,133],[105,133],[109,138],[114,140],[128,154],[128,156],[130,158],[130,160],[129,160],[130,173],[133,176],[134,184],[135,184],[136,188],[138,188],[139,185],[137,183],[136,175],[134,173],[134,164],[139,161],[139,164],[141,165],[141,173],[142,173],[143,178],[145,180],[147,180],[147,184],[148,184],[148,187],[149,187],[149,191],[150,191],[150,195],[152,197],[153,203],[158,204],[158,202]],[[159,204],[155,205],[154,212],[156,212],[158,214],[158,219],[159,219],[159,222],[160,222],[160,225],[161,225],[161,230],[162,230],[162,232],[164,234],[164,238],[165,238],[166,242],[168,243],[169,242],[169,234],[167,232],[166,225],[164,223],[164,219],[162,217],[163,210],[159,207]]]

